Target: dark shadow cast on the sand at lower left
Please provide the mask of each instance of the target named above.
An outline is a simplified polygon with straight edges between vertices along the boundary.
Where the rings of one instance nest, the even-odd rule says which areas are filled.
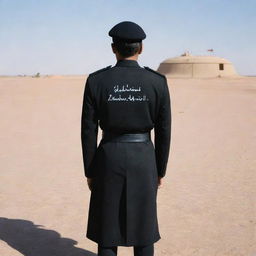
[[[77,241],[32,221],[0,217],[0,239],[25,256],[96,256],[77,248]]]

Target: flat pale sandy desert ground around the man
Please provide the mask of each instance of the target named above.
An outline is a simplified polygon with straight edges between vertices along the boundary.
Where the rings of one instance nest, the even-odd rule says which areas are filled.
[[[1,256],[96,253],[85,237],[85,78],[0,78]],[[256,77],[169,79],[169,88],[172,142],[155,255],[256,256]]]

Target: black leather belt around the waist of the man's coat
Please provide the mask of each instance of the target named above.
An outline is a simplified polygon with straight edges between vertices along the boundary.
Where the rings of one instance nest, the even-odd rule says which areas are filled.
[[[145,133],[123,133],[117,134],[113,132],[102,132],[103,141],[118,141],[118,142],[144,142],[151,140],[150,132]]]

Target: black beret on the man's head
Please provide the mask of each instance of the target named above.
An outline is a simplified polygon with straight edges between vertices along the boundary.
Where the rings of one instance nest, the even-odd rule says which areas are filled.
[[[116,24],[108,35],[113,41],[140,42],[146,38],[144,30],[136,23],[131,21],[123,21]]]

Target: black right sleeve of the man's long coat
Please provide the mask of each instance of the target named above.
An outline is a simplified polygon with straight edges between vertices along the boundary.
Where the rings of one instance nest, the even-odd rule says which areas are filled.
[[[154,127],[155,155],[159,177],[164,177],[166,174],[171,143],[171,99],[166,77],[163,88],[159,114]]]

